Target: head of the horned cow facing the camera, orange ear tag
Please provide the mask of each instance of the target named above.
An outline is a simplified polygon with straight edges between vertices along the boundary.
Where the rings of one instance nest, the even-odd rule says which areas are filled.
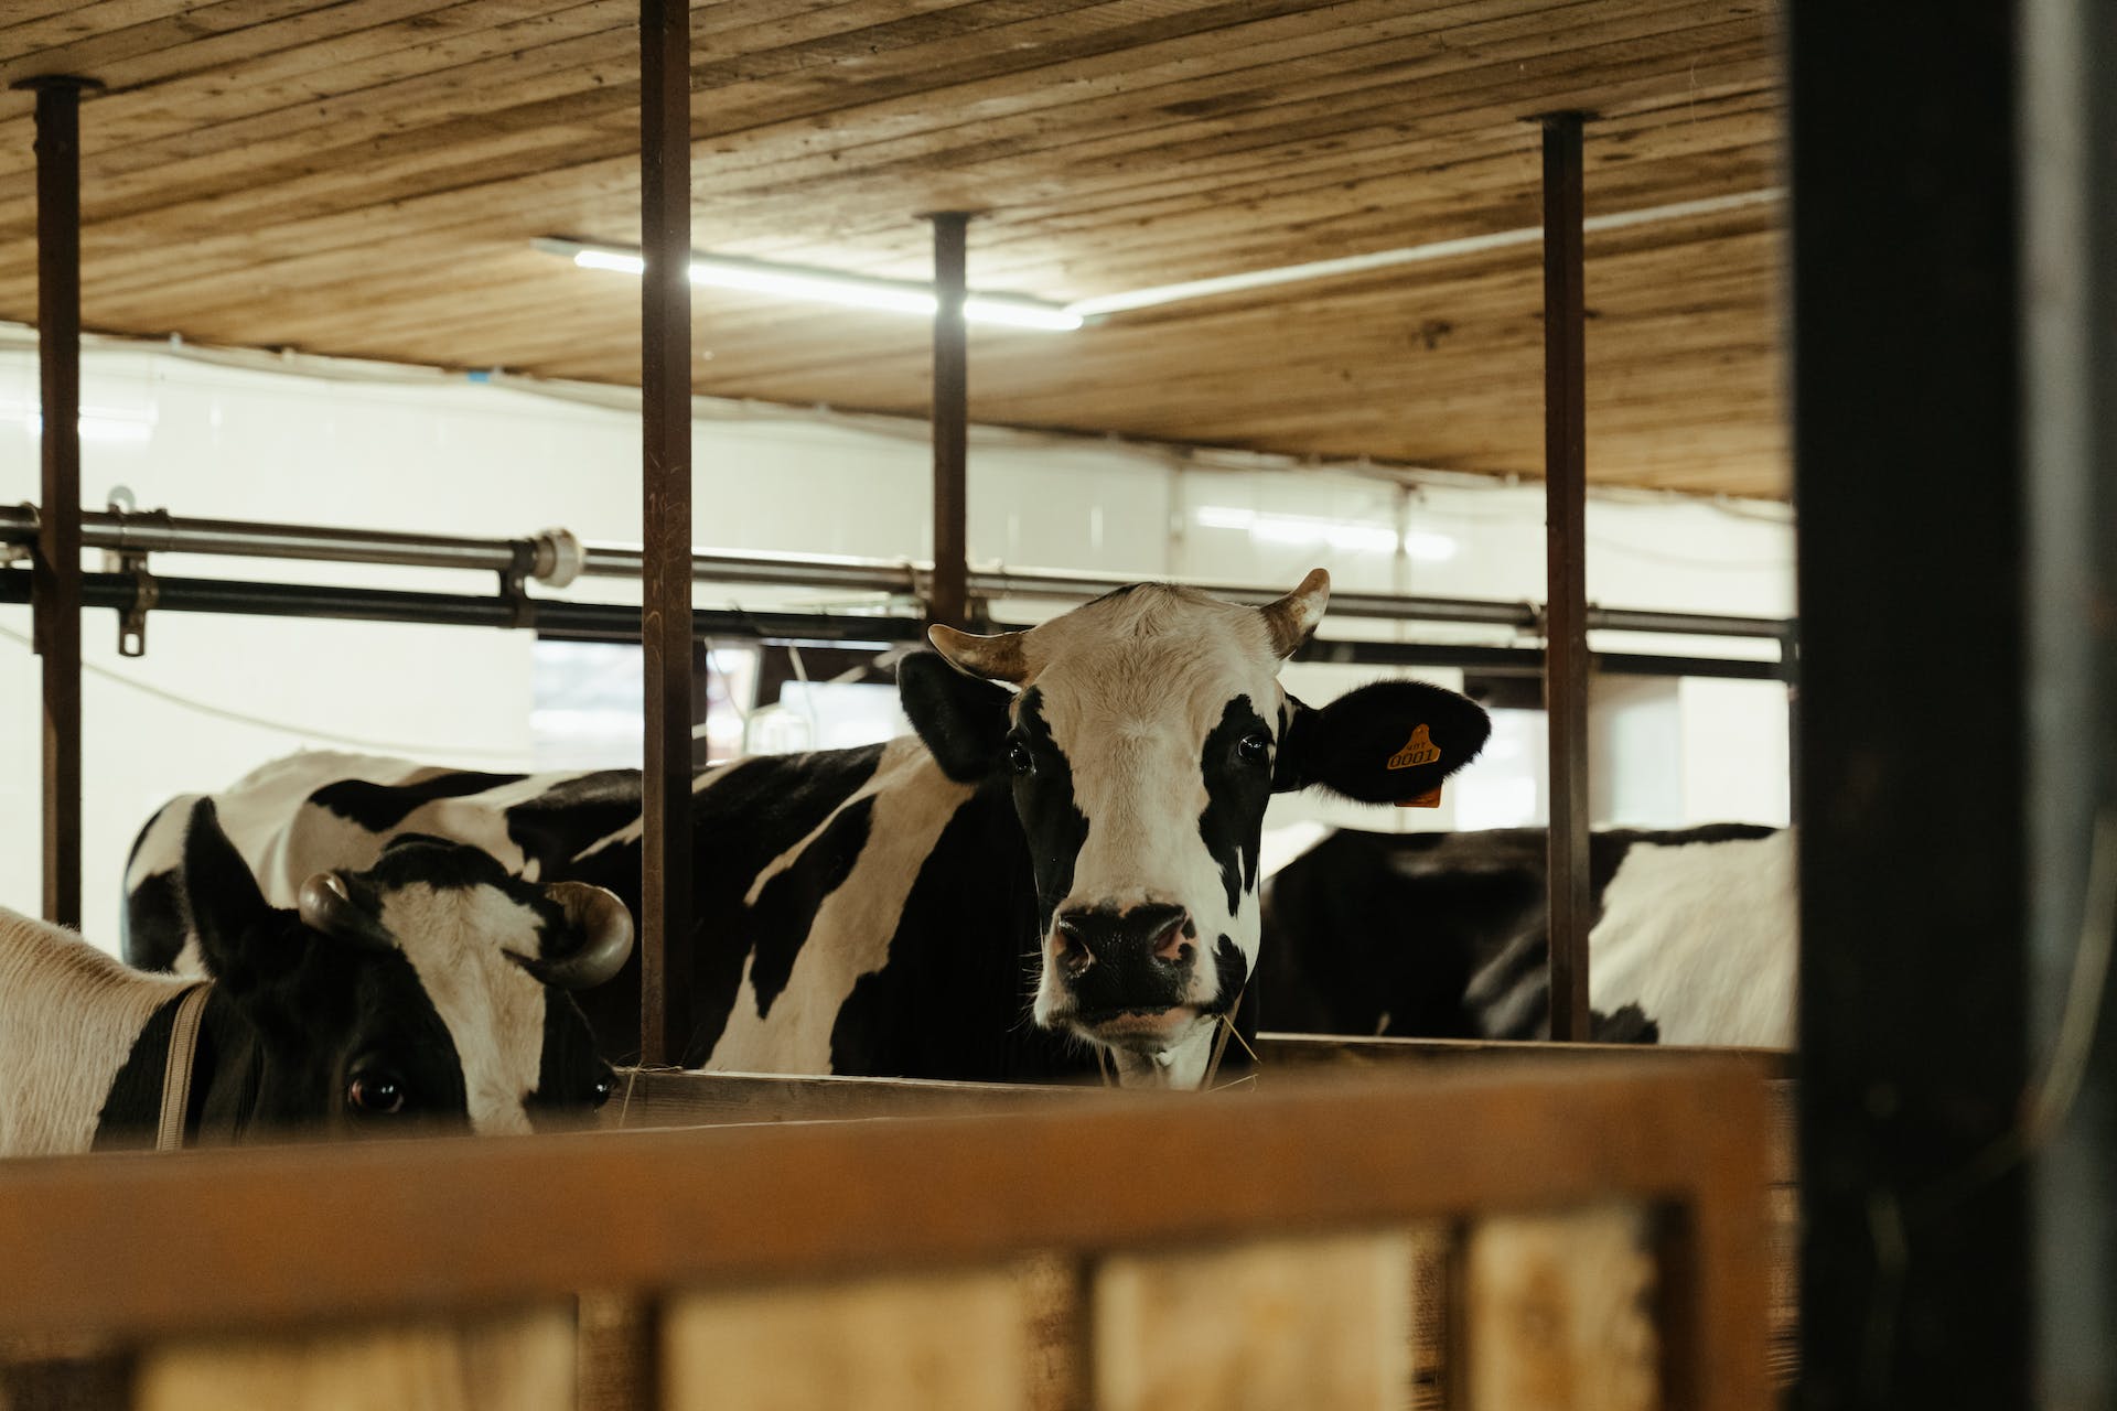
[[[1404,802],[1484,747],[1484,711],[1435,685],[1321,711],[1287,696],[1279,666],[1327,597],[1321,569],[1266,607],[1137,584],[1023,633],[936,626],[940,656],[900,666],[942,770],[1012,785],[1042,918],[1035,1020],[1111,1049],[1128,1083],[1202,1077],[1257,958],[1274,791]]]

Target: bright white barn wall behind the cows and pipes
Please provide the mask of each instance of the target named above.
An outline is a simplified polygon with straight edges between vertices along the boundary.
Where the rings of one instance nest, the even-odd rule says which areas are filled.
[[[972,370],[976,396],[976,366]],[[83,487],[102,503],[114,484],[142,508],[186,516],[334,523],[432,533],[519,535],[563,525],[584,539],[635,544],[637,419],[508,387],[430,379],[392,385],[301,372],[207,366],[152,349],[93,349],[83,366]],[[976,406],[976,402],[974,402]],[[0,499],[36,499],[36,362],[0,349]],[[976,561],[1126,575],[1186,573],[1287,584],[1327,565],[1342,588],[1537,599],[1543,592],[1541,495],[1524,489],[1425,487],[1410,497],[1353,474],[1181,468],[1156,448],[1094,438],[974,432],[970,548]],[[830,423],[798,415],[703,413],[696,429],[696,533],[705,546],[872,556],[931,552],[929,451],[917,423]],[[1215,527],[1241,512],[1266,531]],[[1359,548],[1399,520],[1454,542],[1446,561]],[[1306,527],[1304,527],[1306,525]],[[1329,529],[1342,525],[1351,529]],[[1626,607],[1785,613],[1791,531],[1770,516],[1700,503],[1590,506],[1590,597]],[[1329,542],[1300,539],[1308,529]],[[1291,531],[1291,533],[1289,533]],[[1431,544],[1427,544],[1431,548]],[[375,582],[485,592],[468,573],[159,556],[161,573],[298,582]],[[576,597],[622,599],[586,580]],[[701,588],[699,601],[732,590]],[[743,590],[752,605],[773,597]],[[23,607],[0,607],[0,903],[38,899],[38,698]],[[1325,630],[1376,630],[1340,624]],[[1387,630],[1387,628],[1382,628]],[[1431,633],[1431,628],[1427,628]],[[301,745],[373,740],[392,751],[483,768],[531,759],[527,633],[275,622],[157,613],[148,656],[119,660],[110,613],[83,628],[85,924],[116,943],[119,876],[144,817],[165,798],[227,785]],[[1486,635],[1490,639],[1490,635]],[[110,675],[104,675],[110,673]],[[1289,685],[1323,700],[1382,673],[1296,666]],[[1461,673],[1418,673],[1446,685]],[[121,679],[112,679],[121,677]],[[1734,800],[1744,817],[1785,795],[1785,711],[1776,755],[1736,732],[1740,759],[1698,759],[1727,740],[1700,713],[1744,690],[1683,694],[1685,808]],[[1734,692],[1730,696],[1727,692]],[[174,704],[167,692],[191,704]],[[258,728],[197,707],[277,721]],[[1766,778],[1776,768],[1776,785]],[[1774,795],[1776,787],[1776,795]],[[1357,810],[1308,800],[1274,810],[1365,827],[1450,827],[1440,810]],[[1719,817],[1711,812],[1711,817]],[[1681,821],[1681,819],[1664,819]]]

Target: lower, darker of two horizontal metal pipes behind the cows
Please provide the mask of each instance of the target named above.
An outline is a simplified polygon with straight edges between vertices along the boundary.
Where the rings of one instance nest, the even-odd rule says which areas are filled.
[[[453,592],[400,592],[394,588],[328,588],[315,584],[254,584],[214,578],[157,578],[155,611],[231,613],[246,618],[324,618],[339,622],[411,622],[423,626],[529,626],[542,637],[578,641],[639,641],[639,609],[631,603],[574,603],[533,599],[529,622],[504,597]],[[85,573],[83,607],[125,611],[138,584],[129,573]],[[30,601],[30,571],[0,569],[0,603]],[[739,641],[828,641],[828,643],[919,643],[917,618],[870,613],[775,613],[701,607],[692,633],[701,639]],[[1317,639],[1296,660],[1346,666],[1459,666],[1490,675],[1535,675],[1543,668],[1541,647],[1480,647],[1459,643]],[[1596,671],[1645,677],[1721,677],[1734,681],[1783,679],[1778,662],[1717,656],[1655,656],[1603,652]]]

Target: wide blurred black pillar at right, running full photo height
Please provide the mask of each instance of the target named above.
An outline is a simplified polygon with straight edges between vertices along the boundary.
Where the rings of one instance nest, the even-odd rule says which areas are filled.
[[[1804,1400],[2022,1407],[2015,13],[1789,44]]]

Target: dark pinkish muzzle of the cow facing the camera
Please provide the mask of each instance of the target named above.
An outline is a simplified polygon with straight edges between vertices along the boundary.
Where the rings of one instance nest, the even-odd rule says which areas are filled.
[[[1048,943],[1052,1022],[1122,1049],[1156,1051],[1198,1022],[1190,1001],[1198,927],[1190,912],[1158,901],[1133,908],[1071,908]]]

